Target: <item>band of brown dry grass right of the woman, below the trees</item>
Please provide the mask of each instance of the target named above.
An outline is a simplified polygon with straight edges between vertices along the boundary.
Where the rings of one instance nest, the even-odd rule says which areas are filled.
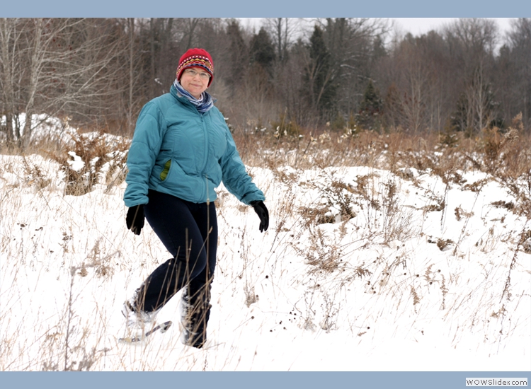
[[[464,134],[411,135],[407,132],[342,132],[301,129],[296,137],[265,134],[251,138],[236,130],[234,139],[249,166],[295,169],[329,166],[370,166],[401,174],[401,168],[415,168],[439,175],[444,182],[462,183],[458,171],[481,170],[499,179],[516,180],[531,170],[531,139],[523,133],[521,115],[501,131],[485,129],[478,137]]]

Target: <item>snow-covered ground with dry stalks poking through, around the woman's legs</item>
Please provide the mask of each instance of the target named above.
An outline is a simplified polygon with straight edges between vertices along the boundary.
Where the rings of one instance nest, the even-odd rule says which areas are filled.
[[[270,227],[223,187],[209,341],[122,344],[125,298],[169,258],[125,228],[125,182],[64,195],[59,165],[0,156],[0,369],[528,371],[531,225],[460,172],[250,168]],[[524,187],[524,183],[522,183]]]

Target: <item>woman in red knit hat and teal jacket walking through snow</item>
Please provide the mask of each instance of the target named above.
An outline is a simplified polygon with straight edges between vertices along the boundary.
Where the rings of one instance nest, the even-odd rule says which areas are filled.
[[[139,235],[144,216],[172,257],[157,267],[126,301],[131,335],[142,336],[156,313],[183,290],[183,342],[200,348],[210,316],[216,265],[215,187],[253,207],[267,231],[263,192],[246,173],[232,135],[206,92],[214,78],[210,54],[190,49],[181,57],[170,93],[149,101],[137,120],[127,156],[126,224]]]

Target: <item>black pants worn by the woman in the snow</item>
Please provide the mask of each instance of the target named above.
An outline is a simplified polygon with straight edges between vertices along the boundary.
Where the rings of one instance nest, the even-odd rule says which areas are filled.
[[[159,309],[177,293],[195,312],[194,322],[205,332],[210,316],[210,285],[216,266],[217,217],[213,202],[195,204],[149,190],[146,219],[172,257],[157,267],[140,286],[137,306]]]

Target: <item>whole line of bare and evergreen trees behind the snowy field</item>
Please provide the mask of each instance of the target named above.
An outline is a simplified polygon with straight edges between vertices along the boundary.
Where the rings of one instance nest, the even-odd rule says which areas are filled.
[[[531,19],[506,35],[457,19],[396,35],[385,19],[4,18],[1,132],[27,145],[34,114],[131,134],[142,105],[169,91],[190,47],[212,54],[210,93],[233,127],[413,134],[531,128]],[[43,115],[44,114],[44,115]]]

